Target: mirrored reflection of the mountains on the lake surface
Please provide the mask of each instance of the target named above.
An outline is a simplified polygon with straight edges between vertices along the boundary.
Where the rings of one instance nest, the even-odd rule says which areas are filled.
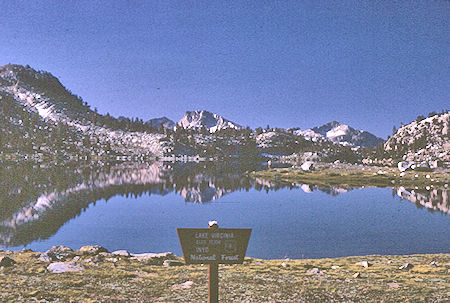
[[[47,239],[91,203],[122,195],[140,197],[175,192],[186,202],[206,203],[240,190],[282,188],[316,190],[336,196],[351,188],[281,184],[246,176],[259,165],[227,163],[89,163],[4,165],[0,168],[0,245],[19,246]],[[447,190],[393,189],[402,199],[432,211],[449,213]]]

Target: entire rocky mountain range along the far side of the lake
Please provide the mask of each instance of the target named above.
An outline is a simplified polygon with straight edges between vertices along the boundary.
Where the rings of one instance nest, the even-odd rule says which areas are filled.
[[[265,154],[311,151],[322,152],[322,160],[328,162],[355,163],[367,158],[372,164],[390,159],[386,163],[396,165],[401,157],[416,162],[450,159],[448,112],[403,126],[381,153],[377,150],[372,161],[368,156],[371,149],[358,149],[378,149],[383,139],[336,121],[307,130],[251,130],[206,110],[188,111],[176,124],[167,117],[146,123],[138,118],[116,119],[91,110],[50,73],[13,64],[0,67],[0,115],[0,155],[25,154],[26,159],[42,154],[59,158],[112,155],[124,160],[180,156],[256,159]],[[384,151],[387,154],[382,154]]]

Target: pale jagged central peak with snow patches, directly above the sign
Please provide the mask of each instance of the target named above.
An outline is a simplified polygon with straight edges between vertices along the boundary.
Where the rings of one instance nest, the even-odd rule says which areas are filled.
[[[187,111],[177,125],[185,129],[200,129],[204,126],[210,132],[225,128],[242,129],[239,124],[206,110]]]

